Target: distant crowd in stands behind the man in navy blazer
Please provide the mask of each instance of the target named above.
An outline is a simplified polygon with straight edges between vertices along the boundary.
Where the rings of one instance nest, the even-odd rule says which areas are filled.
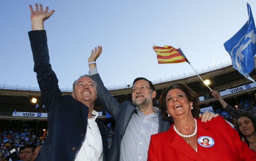
[[[112,123],[107,124],[107,129],[108,148],[110,149],[114,135]],[[23,133],[17,130],[0,131],[0,161],[12,161],[10,155],[12,149],[15,149],[19,154],[20,159],[18,160],[34,161],[41,146],[47,139],[47,132],[36,136],[35,132],[31,129],[25,129],[24,131]],[[26,148],[31,152],[27,152]]]

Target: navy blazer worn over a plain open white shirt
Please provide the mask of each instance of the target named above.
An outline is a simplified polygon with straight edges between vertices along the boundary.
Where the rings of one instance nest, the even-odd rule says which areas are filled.
[[[70,95],[62,96],[52,70],[45,30],[29,32],[34,71],[48,111],[48,137],[36,161],[72,161],[86,134],[88,107]],[[103,160],[107,160],[107,128],[96,119],[103,143]]]

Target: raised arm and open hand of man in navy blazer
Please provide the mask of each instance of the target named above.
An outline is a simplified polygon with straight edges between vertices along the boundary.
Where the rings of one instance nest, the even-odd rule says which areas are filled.
[[[29,31],[29,39],[34,60],[34,72],[37,73],[37,81],[41,90],[42,100],[48,109],[53,109],[62,100],[62,93],[58,86],[58,79],[50,64],[44,21],[54,13],[48,12],[48,7],[43,11],[42,5],[35,4],[35,11],[29,5],[31,11],[32,30]]]

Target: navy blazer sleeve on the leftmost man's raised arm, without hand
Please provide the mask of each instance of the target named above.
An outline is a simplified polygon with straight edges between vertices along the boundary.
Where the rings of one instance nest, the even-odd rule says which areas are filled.
[[[62,100],[62,93],[58,86],[58,79],[50,64],[45,30],[30,31],[29,39],[34,59],[34,71],[41,90],[42,101],[49,110],[57,106]]]

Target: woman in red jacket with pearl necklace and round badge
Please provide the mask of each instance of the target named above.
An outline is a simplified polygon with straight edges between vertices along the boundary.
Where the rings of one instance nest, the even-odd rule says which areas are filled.
[[[175,83],[163,92],[162,115],[174,124],[151,136],[148,161],[256,160],[256,152],[222,117],[206,123],[198,120],[198,104],[198,96],[184,83]],[[209,145],[200,143],[205,138]]]

